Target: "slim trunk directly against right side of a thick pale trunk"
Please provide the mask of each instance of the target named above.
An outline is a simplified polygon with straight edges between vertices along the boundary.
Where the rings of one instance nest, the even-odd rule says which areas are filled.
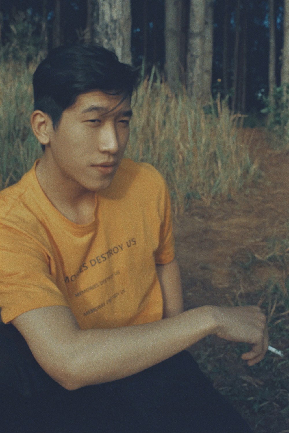
[[[204,41],[204,72],[203,72],[203,98],[204,103],[211,101],[212,67],[213,67],[213,27],[214,2],[206,0],[205,41]]]

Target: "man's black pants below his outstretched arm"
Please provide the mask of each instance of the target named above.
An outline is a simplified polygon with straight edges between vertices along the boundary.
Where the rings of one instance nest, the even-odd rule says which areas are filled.
[[[188,352],[118,381],[67,391],[0,324],[0,433],[252,433]]]

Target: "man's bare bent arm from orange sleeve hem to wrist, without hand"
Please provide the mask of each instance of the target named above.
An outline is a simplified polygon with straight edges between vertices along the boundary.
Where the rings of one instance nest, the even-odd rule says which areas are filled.
[[[211,308],[143,325],[81,330],[68,307],[44,307],[23,313],[13,325],[45,372],[77,389],[140,372],[213,333]]]

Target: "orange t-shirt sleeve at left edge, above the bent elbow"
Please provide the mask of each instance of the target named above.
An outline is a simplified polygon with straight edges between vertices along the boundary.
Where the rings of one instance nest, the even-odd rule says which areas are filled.
[[[68,306],[55,284],[49,254],[28,235],[0,224],[1,320],[9,323],[29,310]]]

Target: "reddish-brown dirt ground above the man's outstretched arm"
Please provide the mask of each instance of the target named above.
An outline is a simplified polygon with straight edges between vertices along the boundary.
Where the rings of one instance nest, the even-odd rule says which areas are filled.
[[[288,238],[289,152],[272,150],[260,129],[244,134],[251,158],[259,160],[259,181],[231,200],[194,200],[175,223],[186,308],[228,304],[270,278],[284,281],[284,269],[268,265],[266,257],[268,240],[273,250]]]

